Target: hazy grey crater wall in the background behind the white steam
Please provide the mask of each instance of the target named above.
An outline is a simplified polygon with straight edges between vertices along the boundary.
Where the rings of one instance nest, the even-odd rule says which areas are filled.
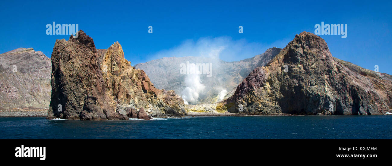
[[[267,49],[263,54],[233,62],[226,62],[216,57],[161,58],[136,64],[135,68],[144,70],[157,88],[171,89],[177,94],[184,95],[182,94],[183,90],[189,86],[185,83],[188,75],[180,73],[180,64],[186,64],[187,62],[194,64],[211,63],[211,77],[207,77],[207,74],[200,74],[200,86],[204,86],[204,88],[199,91],[198,101],[189,103],[215,103],[220,101],[219,98],[224,98],[225,95],[229,94],[253,69],[267,65],[280,51],[281,49],[273,47]],[[224,55],[221,55],[221,57],[224,58]],[[226,90],[226,93],[221,94],[222,90]]]

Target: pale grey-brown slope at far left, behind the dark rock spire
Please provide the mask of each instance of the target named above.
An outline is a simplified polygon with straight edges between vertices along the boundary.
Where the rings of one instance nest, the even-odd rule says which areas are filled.
[[[0,54],[0,110],[47,109],[51,95],[50,61],[33,48]]]

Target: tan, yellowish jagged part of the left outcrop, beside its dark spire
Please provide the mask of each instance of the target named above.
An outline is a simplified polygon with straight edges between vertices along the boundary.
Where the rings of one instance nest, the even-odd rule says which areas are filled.
[[[155,88],[143,70],[125,60],[120,43],[102,54],[100,66],[111,106],[145,108],[152,117],[185,115],[183,99],[172,90]]]

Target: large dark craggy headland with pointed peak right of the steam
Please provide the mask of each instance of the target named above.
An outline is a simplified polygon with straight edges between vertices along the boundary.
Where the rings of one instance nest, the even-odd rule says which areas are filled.
[[[333,58],[322,38],[302,32],[225,102],[247,114],[383,114],[391,111],[390,78]]]

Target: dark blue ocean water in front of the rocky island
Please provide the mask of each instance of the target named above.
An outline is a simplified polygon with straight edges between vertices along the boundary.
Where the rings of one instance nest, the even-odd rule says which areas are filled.
[[[0,118],[0,139],[392,139],[392,116],[215,116],[151,121],[11,117]]]

